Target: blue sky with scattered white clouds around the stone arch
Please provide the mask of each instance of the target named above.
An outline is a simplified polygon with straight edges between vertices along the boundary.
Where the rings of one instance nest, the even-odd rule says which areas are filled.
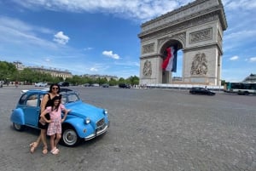
[[[73,75],[139,76],[143,22],[193,0],[0,0],[0,60]],[[256,1],[223,0],[222,79],[256,74]],[[182,76],[182,53],[177,73]]]

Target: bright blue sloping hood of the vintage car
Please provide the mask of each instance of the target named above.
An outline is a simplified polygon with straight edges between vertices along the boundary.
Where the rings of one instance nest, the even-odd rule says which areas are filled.
[[[103,117],[103,109],[96,107],[94,105],[89,105],[83,101],[76,101],[72,103],[65,104],[67,109],[71,109],[68,115],[74,115],[78,117],[89,117],[93,121],[97,121]]]

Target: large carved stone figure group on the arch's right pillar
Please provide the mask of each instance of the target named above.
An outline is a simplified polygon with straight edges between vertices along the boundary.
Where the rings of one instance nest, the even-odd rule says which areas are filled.
[[[204,53],[195,54],[194,60],[191,65],[191,75],[207,75],[207,56]]]

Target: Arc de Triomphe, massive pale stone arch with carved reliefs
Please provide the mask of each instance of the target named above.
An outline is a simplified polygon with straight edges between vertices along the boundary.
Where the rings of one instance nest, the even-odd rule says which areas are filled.
[[[141,26],[140,84],[199,83],[220,85],[223,32],[221,0],[195,0]],[[162,69],[166,48],[183,51],[182,80]],[[178,66],[177,66],[178,67]]]

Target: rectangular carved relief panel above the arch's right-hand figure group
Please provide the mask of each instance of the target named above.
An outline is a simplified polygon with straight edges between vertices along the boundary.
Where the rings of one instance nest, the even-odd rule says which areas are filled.
[[[190,33],[190,43],[198,43],[212,39],[212,28]]]

